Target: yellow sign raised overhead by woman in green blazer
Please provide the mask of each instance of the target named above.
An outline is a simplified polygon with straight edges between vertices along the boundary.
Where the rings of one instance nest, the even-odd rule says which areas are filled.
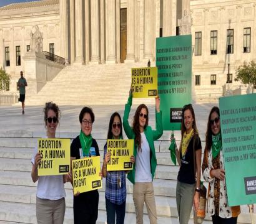
[[[134,98],[157,96],[157,67],[132,68],[132,93]]]

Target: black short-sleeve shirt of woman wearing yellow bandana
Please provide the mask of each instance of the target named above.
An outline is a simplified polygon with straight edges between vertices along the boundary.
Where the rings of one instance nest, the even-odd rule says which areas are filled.
[[[184,157],[180,152],[180,170],[178,174],[179,182],[185,184],[195,184],[195,172],[194,172],[194,156],[193,156],[193,142],[194,137],[190,140],[187,152]],[[195,141],[195,151],[202,149],[201,140],[198,137],[198,141]]]

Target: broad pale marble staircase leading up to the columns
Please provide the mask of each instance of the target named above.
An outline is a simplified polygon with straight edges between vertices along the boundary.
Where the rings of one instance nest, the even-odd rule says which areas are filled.
[[[141,62],[68,65],[39,93],[26,95],[26,105],[44,105],[46,101],[57,105],[123,105],[129,95],[131,68],[145,66]],[[143,101],[154,103],[152,98]]]

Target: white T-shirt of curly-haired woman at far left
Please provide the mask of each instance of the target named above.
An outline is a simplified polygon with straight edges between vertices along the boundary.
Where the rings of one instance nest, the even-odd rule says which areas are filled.
[[[34,148],[34,154],[31,162],[34,164],[34,157],[38,152],[37,147]],[[63,175],[46,175],[38,177],[36,196],[42,199],[59,200],[66,197]]]

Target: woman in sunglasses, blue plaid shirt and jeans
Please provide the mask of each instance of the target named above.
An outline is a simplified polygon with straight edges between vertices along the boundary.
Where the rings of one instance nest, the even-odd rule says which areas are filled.
[[[111,115],[109,121],[109,131],[107,139],[122,139],[122,121],[119,113]],[[107,162],[111,159],[111,152],[107,152],[107,143],[104,146],[104,161],[102,165],[102,175],[106,177],[106,210],[107,224],[123,224],[126,215],[126,171],[107,172]],[[134,156],[130,157],[130,162],[134,164]]]

